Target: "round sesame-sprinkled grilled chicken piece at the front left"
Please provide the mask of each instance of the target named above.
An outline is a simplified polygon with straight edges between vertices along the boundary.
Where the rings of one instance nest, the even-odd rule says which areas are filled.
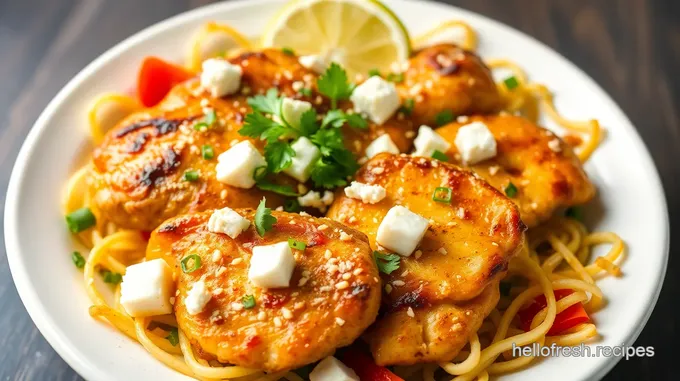
[[[352,343],[375,320],[380,281],[366,235],[325,218],[273,212],[277,222],[260,237],[255,211],[236,211],[251,221],[236,239],[209,232],[211,213],[203,212],[164,222],[147,250],[148,259],[175,266],[177,322],[203,358],[272,372],[294,369]],[[307,244],[304,251],[293,249],[290,287],[252,285],[253,247],[289,238]],[[178,262],[188,254],[198,255],[201,267],[184,273]],[[212,297],[202,312],[190,315],[187,291],[199,280]],[[246,295],[255,297],[254,308],[241,308]]]

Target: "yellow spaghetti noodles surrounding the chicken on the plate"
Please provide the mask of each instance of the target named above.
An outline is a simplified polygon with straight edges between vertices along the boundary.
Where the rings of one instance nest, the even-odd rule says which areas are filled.
[[[441,32],[445,28],[462,28],[466,33],[465,47],[474,49],[477,36],[473,29],[461,21],[450,21],[426,33],[416,41]],[[202,29],[193,42],[189,68],[197,70],[203,58],[201,47],[211,33],[227,34],[242,48],[252,48],[247,38],[232,28],[209,23]],[[601,139],[602,131],[596,120],[586,122],[570,121],[556,110],[550,91],[541,84],[529,82],[526,73],[515,63],[508,60],[488,62],[492,69],[508,69],[513,73],[517,86],[509,90],[503,83],[498,89],[505,101],[505,111],[521,113],[536,122],[539,109],[569,133],[587,135],[579,146],[577,154],[581,161],[590,158]],[[139,106],[133,99],[123,95],[107,94],[94,102],[89,113],[92,139],[100,142],[105,133],[98,115],[99,108],[120,102],[121,106],[132,111]],[[122,230],[107,221],[90,203],[86,189],[87,167],[78,170],[69,180],[66,190],[64,209],[66,213],[81,207],[88,207],[97,217],[97,225],[76,238],[90,249],[84,266],[84,281],[92,302],[89,313],[92,317],[108,321],[128,337],[137,340],[149,353],[168,367],[200,380],[230,379],[300,381],[295,373],[264,374],[262,371],[240,366],[215,366],[197,358],[186,335],[178,330],[179,345],[172,345],[166,336],[177,329],[172,316],[152,318],[132,318],[120,306],[120,288],[117,287],[113,303],[108,303],[95,284],[98,269],[124,274],[126,267],[144,260],[146,240],[141,232]],[[591,259],[593,247],[610,245],[609,251]],[[423,379],[434,380],[435,373],[441,369],[455,381],[488,380],[490,375],[513,372],[530,364],[533,357],[513,357],[513,345],[577,345],[597,336],[594,324],[585,323],[571,328],[560,335],[549,335],[549,330],[557,314],[571,306],[583,304],[587,312],[594,312],[602,306],[604,298],[596,281],[606,275],[620,276],[616,265],[624,252],[624,243],[612,232],[589,233],[586,227],[575,219],[554,217],[542,226],[528,232],[527,243],[520,255],[510,263],[504,282],[510,284],[509,292],[503,295],[496,309],[487,317],[482,328],[471,335],[468,348],[462,351],[455,362],[398,367],[396,373],[409,377],[422,372]],[[519,279],[519,281],[518,281]],[[556,300],[555,290],[571,290],[572,293]],[[520,310],[542,295],[545,307],[536,313],[527,331],[518,325]],[[150,325],[156,325],[150,329]],[[440,378],[441,379],[441,378]]]

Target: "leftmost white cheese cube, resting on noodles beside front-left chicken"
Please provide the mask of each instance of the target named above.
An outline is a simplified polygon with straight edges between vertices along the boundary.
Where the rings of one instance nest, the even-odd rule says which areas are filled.
[[[120,285],[120,304],[132,317],[172,312],[170,297],[175,291],[172,269],[163,259],[128,266]]]

